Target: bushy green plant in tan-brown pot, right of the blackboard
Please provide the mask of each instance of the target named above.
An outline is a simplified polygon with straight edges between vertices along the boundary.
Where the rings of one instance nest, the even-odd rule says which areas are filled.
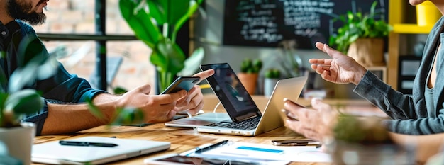
[[[384,65],[384,37],[393,29],[384,21],[384,13],[376,12],[377,1],[370,13],[348,11],[333,21],[342,21],[337,33],[331,35],[330,45],[353,57],[364,66]]]

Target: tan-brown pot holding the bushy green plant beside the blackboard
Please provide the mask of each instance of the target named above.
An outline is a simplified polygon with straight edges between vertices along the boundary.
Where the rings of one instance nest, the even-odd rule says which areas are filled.
[[[382,38],[358,38],[348,47],[347,55],[365,67],[385,66],[384,40]]]

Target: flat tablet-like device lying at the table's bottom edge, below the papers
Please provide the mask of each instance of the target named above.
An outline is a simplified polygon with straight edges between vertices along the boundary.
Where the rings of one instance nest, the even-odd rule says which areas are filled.
[[[165,154],[159,157],[148,158],[143,161],[145,164],[170,164],[170,165],[188,165],[188,164],[231,164],[231,165],[248,165],[248,164],[260,164],[254,160],[240,160],[240,159],[214,159],[214,158],[201,158],[201,157],[187,157],[179,154]]]

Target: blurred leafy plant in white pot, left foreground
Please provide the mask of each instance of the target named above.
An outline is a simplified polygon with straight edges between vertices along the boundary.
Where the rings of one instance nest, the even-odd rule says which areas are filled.
[[[21,123],[22,115],[38,112],[44,106],[43,98],[38,91],[26,89],[36,79],[48,79],[55,73],[58,63],[55,55],[48,56],[38,53],[43,45],[35,44],[38,38],[27,38],[21,42],[18,55],[30,57],[28,61],[21,61],[13,74],[6,78],[0,72],[0,142],[5,144],[9,157],[16,158],[23,164],[30,164],[30,154],[35,137],[34,123]],[[1,57],[6,52],[0,52]],[[4,157],[4,156],[3,156]]]

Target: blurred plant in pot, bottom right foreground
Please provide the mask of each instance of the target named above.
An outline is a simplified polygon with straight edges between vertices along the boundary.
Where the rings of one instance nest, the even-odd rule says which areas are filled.
[[[333,140],[326,143],[333,164],[411,164],[414,147],[396,144],[374,116],[340,114],[333,125]],[[353,155],[353,156],[352,156]],[[350,159],[353,157],[353,159]],[[396,159],[393,159],[396,157]]]

